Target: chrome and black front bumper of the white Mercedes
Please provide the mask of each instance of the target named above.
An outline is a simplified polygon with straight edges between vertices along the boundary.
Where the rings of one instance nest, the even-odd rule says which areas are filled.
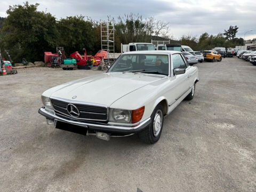
[[[44,107],[41,107],[38,110],[38,113],[52,121],[60,121],[68,124],[86,127],[88,130],[91,130],[91,131],[100,131],[100,132],[108,132],[108,133],[121,133],[121,134],[137,133],[145,129],[145,127],[147,127],[151,123],[150,117],[135,126],[111,125],[108,123],[97,123],[97,122],[88,122],[88,121],[81,122],[76,119],[71,119],[71,118],[68,119],[68,117],[67,118],[59,117],[51,113],[50,111],[45,110]]]

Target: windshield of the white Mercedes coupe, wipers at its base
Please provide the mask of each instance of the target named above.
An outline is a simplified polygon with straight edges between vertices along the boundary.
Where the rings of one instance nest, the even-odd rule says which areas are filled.
[[[124,54],[110,67],[109,72],[169,75],[169,57],[165,54]]]

